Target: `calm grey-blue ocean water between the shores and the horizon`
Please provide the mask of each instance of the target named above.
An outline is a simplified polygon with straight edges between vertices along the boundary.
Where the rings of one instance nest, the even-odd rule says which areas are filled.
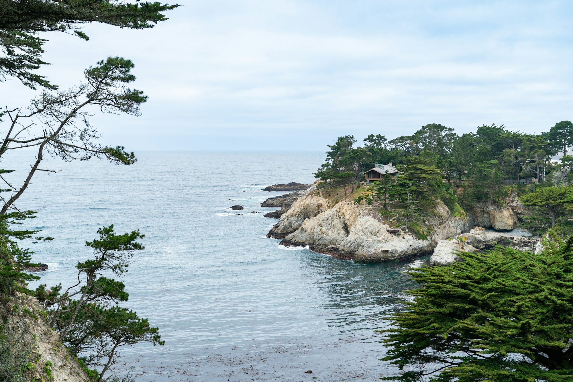
[[[129,167],[50,159],[44,167],[62,171],[37,176],[18,202],[39,211],[29,227],[56,238],[32,246],[50,265],[40,273],[49,286],[72,284],[98,227],[146,234],[124,277],[124,306],[166,343],[125,349],[117,370],[133,365],[139,381],[374,381],[393,372],[379,361],[375,330],[415,286],[403,271],[421,260],[359,265],[281,248],[265,237],[276,220],[248,213],[272,211],[260,203],[282,193],[261,192],[266,185],[311,183],[324,153],[136,154]],[[25,170],[18,155],[5,168]],[[246,214],[226,209],[234,204]]]

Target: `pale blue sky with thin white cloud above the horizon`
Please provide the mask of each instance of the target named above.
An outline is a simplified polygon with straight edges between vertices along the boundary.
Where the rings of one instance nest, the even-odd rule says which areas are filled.
[[[147,30],[49,33],[40,73],[69,87],[107,56],[136,64],[142,116],[95,114],[130,150],[324,150],[340,135],[547,131],[573,119],[570,1],[181,0]],[[2,103],[38,92],[0,85]]]

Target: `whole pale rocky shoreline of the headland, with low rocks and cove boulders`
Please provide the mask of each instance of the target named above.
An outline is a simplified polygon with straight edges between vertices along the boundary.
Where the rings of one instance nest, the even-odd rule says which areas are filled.
[[[279,205],[280,210],[267,214],[279,217],[267,237],[282,239],[282,245],[308,245],[312,251],[359,263],[434,254],[431,262],[437,265],[456,261],[457,255],[452,256],[452,251],[482,250],[498,242],[531,249],[537,241],[516,239],[507,233],[517,228],[523,213],[523,207],[515,202],[503,208],[477,205],[467,215],[453,216],[439,201],[435,213],[426,221],[429,232],[425,240],[390,227],[380,216],[379,206],[357,204],[350,198],[335,201],[323,197],[314,185],[304,191],[269,198],[261,206]],[[485,228],[500,232],[486,232]]]

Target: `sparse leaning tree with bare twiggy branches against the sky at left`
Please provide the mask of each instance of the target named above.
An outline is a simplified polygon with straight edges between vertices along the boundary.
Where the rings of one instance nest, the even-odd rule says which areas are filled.
[[[38,167],[46,154],[66,161],[95,157],[107,158],[116,164],[135,163],[135,154],[123,146],[105,146],[97,141],[101,134],[90,123],[91,114],[87,111],[89,106],[95,106],[102,112],[139,116],[147,96],[139,89],[128,87],[135,80],[134,67],[131,60],[107,57],[85,70],[85,83],[65,90],[44,91],[32,100],[28,110],[15,107],[5,111],[9,119],[0,121],[7,131],[0,139],[0,158],[10,150],[30,146],[37,146],[38,154],[30,163],[28,176],[17,186],[12,187],[13,182],[1,178],[10,185],[11,194],[3,197],[0,215],[15,209],[15,202],[28,188],[36,171],[47,171]],[[19,129],[18,126],[28,127]],[[32,130],[34,126],[38,126],[36,130]]]

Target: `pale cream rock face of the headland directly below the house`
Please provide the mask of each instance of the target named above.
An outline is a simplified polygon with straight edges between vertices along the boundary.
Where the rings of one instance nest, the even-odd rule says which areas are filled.
[[[428,240],[420,240],[410,233],[392,235],[386,231],[388,225],[363,212],[364,205],[351,200],[328,208],[327,200],[309,195],[297,200],[269,234],[280,237],[291,231],[284,244],[310,245],[312,250],[355,262],[377,262],[430,252],[438,240],[468,231],[469,226],[467,219],[452,217],[439,202],[437,216],[430,222],[434,231]]]

